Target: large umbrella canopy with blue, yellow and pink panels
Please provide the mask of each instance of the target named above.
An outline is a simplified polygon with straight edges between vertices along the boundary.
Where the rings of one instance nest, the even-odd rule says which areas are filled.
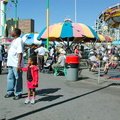
[[[47,37],[47,30],[44,28],[39,36],[37,37],[38,40],[46,39]],[[99,39],[97,33],[90,27],[82,23],[57,23],[49,26],[49,40],[59,40],[62,38],[76,38],[81,40],[81,38],[96,38]],[[72,41],[73,39],[71,39]]]

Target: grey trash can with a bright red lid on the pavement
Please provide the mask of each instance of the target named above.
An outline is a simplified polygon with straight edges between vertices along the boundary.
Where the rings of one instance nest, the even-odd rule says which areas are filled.
[[[79,57],[76,55],[66,56],[65,67],[68,81],[78,80]]]

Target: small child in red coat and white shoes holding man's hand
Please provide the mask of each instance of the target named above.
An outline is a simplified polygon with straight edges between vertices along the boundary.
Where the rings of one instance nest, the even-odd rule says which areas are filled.
[[[22,71],[27,71],[27,88],[28,88],[28,97],[25,100],[25,104],[31,102],[31,104],[35,104],[35,89],[38,87],[38,67],[37,58],[34,56],[30,56],[28,58],[28,66],[26,68],[21,68]],[[32,93],[32,99],[30,100],[30,95]]]

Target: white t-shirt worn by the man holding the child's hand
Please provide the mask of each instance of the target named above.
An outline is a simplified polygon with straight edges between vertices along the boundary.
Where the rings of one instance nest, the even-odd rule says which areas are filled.
[[[23,41],[20,37],[14,39],[8,50],[7,66],[18,66],[18,54],[23,53]],[[21,67],[24,66],[24,60],[21,61]]]

